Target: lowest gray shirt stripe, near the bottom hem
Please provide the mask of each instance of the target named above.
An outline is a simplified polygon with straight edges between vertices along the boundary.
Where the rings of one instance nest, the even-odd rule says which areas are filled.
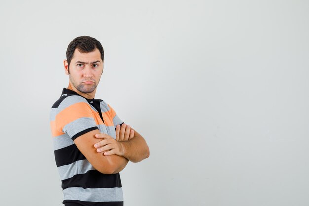
[[[82,188],[69,187],[63,190],[64,200],[91,202],[123,201],[122,188]]]

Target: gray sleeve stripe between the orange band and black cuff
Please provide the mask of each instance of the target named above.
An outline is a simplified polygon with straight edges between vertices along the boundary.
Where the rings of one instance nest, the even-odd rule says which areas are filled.
[[[63,133],[67,133],[72,138],[77,133],[95,126],[97,125],[94,121],[94,118],[81,117],[69,124],[66,124],[63,127]]]

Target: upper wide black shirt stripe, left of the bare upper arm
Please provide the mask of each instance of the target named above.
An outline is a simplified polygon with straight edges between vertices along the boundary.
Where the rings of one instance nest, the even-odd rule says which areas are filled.
[[[75,144],[55,150],[54,153],[57,167],[71,164],[77,160],[86,159]]]

